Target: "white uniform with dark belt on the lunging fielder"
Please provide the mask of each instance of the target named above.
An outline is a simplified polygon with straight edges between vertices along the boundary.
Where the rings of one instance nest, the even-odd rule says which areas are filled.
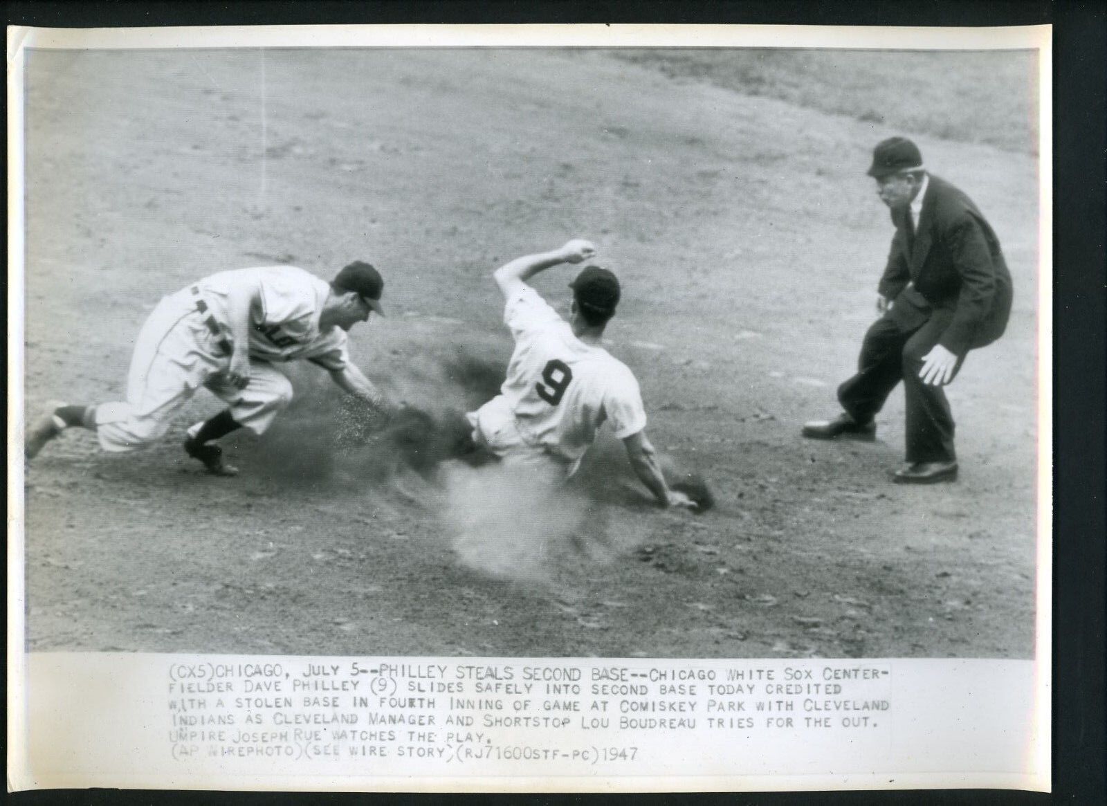
[[[257,293],[249,322],[250,379],[245,389],[224,375],[230,366],[227,299]],[[165,435],[173,416],[206,386],[230,406],[237,423],[261,434],[292,400],[292,384],[273,364],[297,359],[328,371],[349,363],[346,334],[319,330],[330,283],[294,266],[265,266],[213,275],[162,298],[138,332],[126,402],[96,407],[105,451],[135,451]],[[189,433],[195,435],[199,425]]]

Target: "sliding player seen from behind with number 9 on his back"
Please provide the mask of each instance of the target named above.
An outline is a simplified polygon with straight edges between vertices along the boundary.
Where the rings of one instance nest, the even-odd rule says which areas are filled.
[[[569,283],[569,321],[526,282],[552,266],[580,264],[594,254],[589,241],[570,240],[496,270],[515,352],[499,395],[466,415],[473,441],[505,464],[531,472],[552,469],[563,477],[577,468],[607,421],[658,504],[694,509],[692,498],[665,482],[645,435],[645,409],[633,373],[600,347],[619,303],[619,280],[607,269],[586,267]]]

